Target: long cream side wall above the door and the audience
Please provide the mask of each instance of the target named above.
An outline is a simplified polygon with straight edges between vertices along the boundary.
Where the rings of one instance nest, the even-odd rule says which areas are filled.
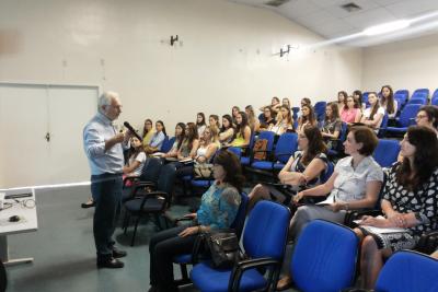
[[[182,44],[171,47],[175,34]],[[270,11],[221,0],[0,0],[0,81],[102,85],[120,93],[122,120],[160,118],[172,133],[199,110],[360,87],[360,49],[273,56],[319,40]]]

